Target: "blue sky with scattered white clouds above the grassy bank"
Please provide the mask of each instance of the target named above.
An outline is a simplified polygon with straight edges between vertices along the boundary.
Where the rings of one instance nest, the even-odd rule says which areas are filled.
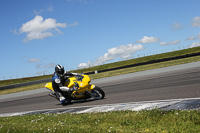
[[[199,0],[1,0],[0,80],[200,46]]]

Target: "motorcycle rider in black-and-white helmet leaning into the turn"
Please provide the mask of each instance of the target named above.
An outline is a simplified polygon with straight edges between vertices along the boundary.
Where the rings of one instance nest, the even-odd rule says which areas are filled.
[[[55,72],[52,76],[52,87],[55,91],[55,94],[50,93],[50,95],[56,97],[60,101],[61,104],[64,104],[66,102],[66,99],[63,96],[63,91],[71,94],[74,90],[76,90],[75,87],[68,88],[64,86],[65,81],[69,77],[72,77],[75,75],[76,73],[65,72],[65,69],[62,65],[56,65],[55,67]]]

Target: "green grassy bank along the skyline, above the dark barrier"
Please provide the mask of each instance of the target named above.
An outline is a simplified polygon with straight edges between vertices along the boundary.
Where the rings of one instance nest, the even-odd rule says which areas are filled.
[[[115,67],[135,64],[135,63],[147,62],[150,60],[175,57],[175,56],[179,56],[179,55],[186,55],[186,54],[197,53],[197,52],[200,52],[200,47],[189,48],[189,49],[184,49],[184,50],[180,50],[180,51],[168,52],[168,53],[157,54],[157,55],[151,55],[151,56],[146,56],[146,57],[141,57],[141,58],[136,58],[136,59],[131,59],[131,60],[125,60],[125,61],[120,61],[120,62],[114,62],[114,63],[109,63],[109,64],[105,64],[105,65],[100,65],[100,66],[74,70],[73,72],[77,72],[77,73],[94,72],[94,71],[104,70],[104,69],[108,69],[108,68],[115,68]],[[27,77],[27,78],[11,79],[11,80],[2,80],[2,81],[0,81],[0,86],[24,83],[24,82],[47,79],[47,78],[51,78],[51,75]]]

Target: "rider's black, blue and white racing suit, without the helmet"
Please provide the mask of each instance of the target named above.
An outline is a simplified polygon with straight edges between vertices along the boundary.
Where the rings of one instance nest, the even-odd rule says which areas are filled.
[[[68,88],[68,87],[64,86],[65,81],[69,77],[72,77],[74,75],[76,75],[76,73],[65,72],[63,75],[61,75],[61,74],[58,74],[55,72],[52,76],[52,87],[55,91],[55,94],[53,94],[53,95],[55,95],[55,97],[61,102],[61,104],[64,104],[66,101],[63,92],[67,92],[68,95],[70,95],[71,92],[73,92],[75,90],[75,87]]]

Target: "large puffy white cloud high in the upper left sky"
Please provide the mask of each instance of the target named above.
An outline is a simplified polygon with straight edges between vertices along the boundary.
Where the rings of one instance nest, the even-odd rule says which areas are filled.
[[[26,33],[27,36],[24,42],[28,42],[34,39],[51,37],[53,36],[53,30],[61,32],[58,28],[65,28],[66,26],[66,23],[56,23],[56,20],[52,18],[44,20],[42,16],[35,16],[34,19],[24,23],[19,31],[20,33]]]

